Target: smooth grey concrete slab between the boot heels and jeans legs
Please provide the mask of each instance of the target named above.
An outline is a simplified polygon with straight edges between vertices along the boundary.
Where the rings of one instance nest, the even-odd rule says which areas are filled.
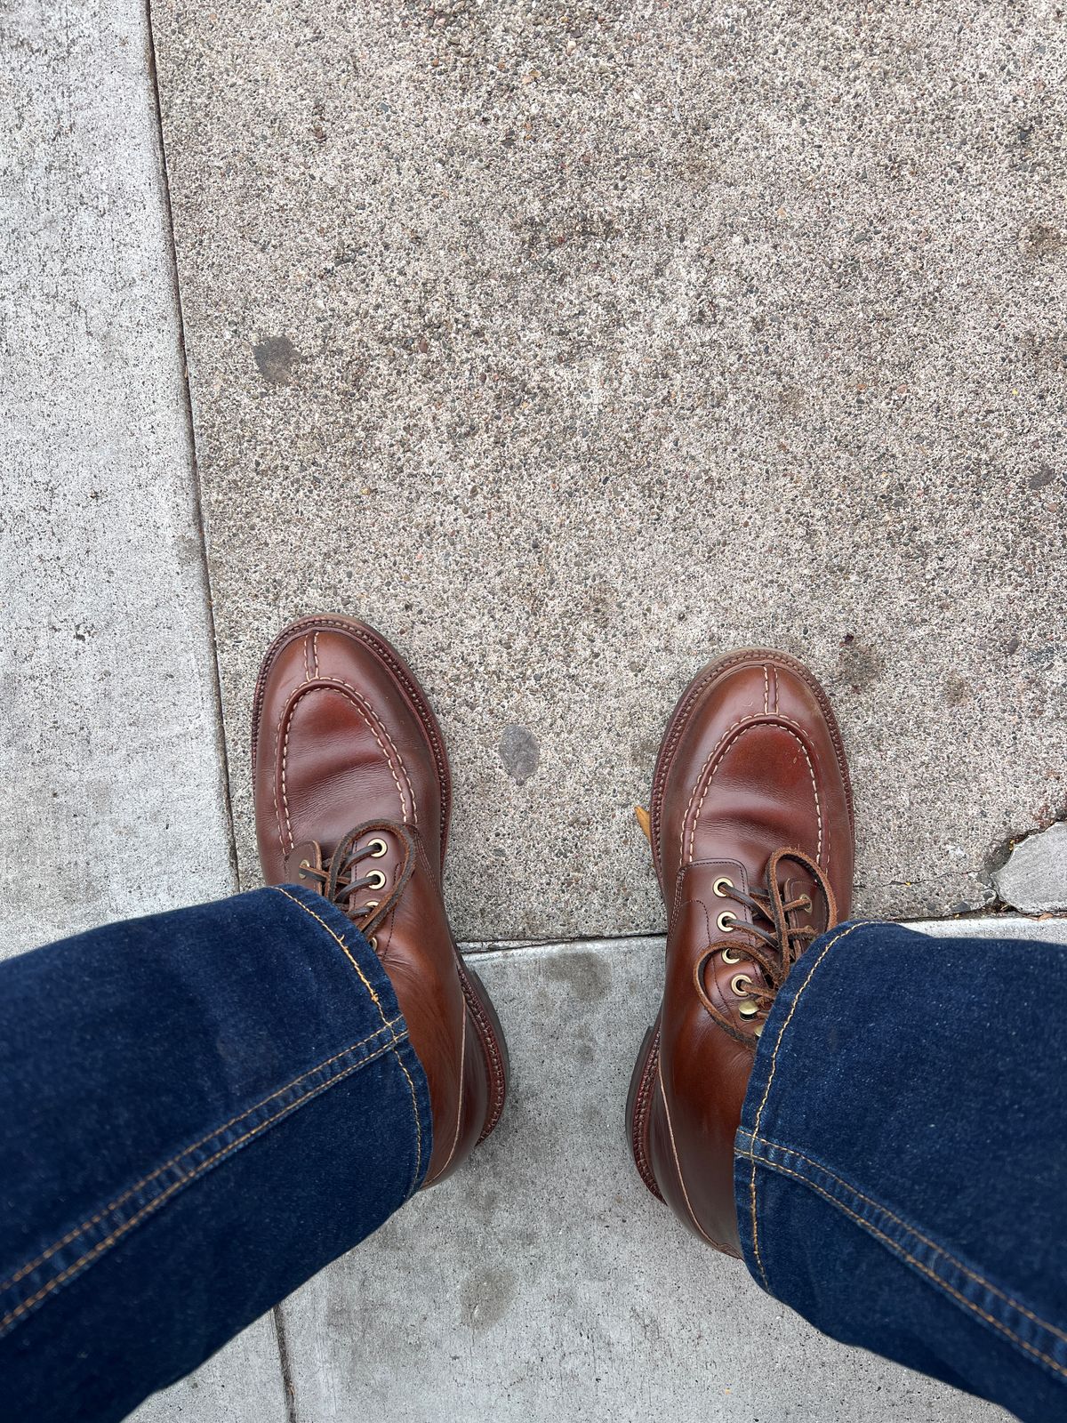
[[[1054,932],[1067,942],[1066,922]],[[477,955],[508,1035],[508,1109],[461,1173],[282,1306],[297,1420],[1006,1417],[825,1339],[644,1190],[623,1107],[662,955],[660,939]]]

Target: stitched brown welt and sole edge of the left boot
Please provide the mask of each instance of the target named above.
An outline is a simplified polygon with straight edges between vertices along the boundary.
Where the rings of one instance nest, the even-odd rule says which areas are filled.
[[[263,663],[259,669],[259,676],[256,677],[256,690],[252,700],[252,774],[255,776],[256,773],[259,723],[263,712],[263,697],[266,694],[266,679],[275,659],[292,642],[296,642],[299,638],[304,638],[309,632],[317,632],[326,628],[349,633],[349,636],[361,642],[378,657],[380,662],[386,665],[396,682],[400,684],[401,692],[415,714],[415,720],[423,729],[423,734],[427,739],[427,747],[434,758],[434,764],[437,766],[437,776],[441,787],[441,874],[444,875],[445,850],[448,848],[448,827],[452,813],[452,777],[448,768],[444,736],[441,734],[441,727],[434,716],[434,710],[427,702],[411,667],[408,667],[393,643],[367,623],[360,622],[356,618],[346,618],[343,613],[310,613],[306,618],[299,618],[287,628],[283,628],[275,638],[263,656]],[[455,970],[460,978],[460,986],[464,990],[467,1007],[478,1032],[478,1042],[481,1043],[482,1054],[485,1057],[485,1073],[489,1083],[489,1110],[481,1136],[478,1137],[478,1143],[481,1144],[494,1131],[497,1123],[501,1120],[504,1103],[508,1097],[511,1062],[508,1057],[508,1043],[504,1036],[504,1029],[501,1027],[501,1020],[497,1016],[497,1009],[492,1006],[492,1000],[485,990],[485,985],[472,969],[467,968],[455,942],[452,943],[452,953],[455,955]]]

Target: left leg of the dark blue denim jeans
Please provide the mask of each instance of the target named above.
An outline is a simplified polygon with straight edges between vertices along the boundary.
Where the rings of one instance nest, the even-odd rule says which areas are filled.
[[[377,956],[300,888],[0,963],[0,1419],[121,1419],[423,1181]]]

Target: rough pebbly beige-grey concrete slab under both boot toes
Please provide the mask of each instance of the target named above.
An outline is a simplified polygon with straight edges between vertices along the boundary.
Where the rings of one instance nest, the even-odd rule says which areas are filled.
[[[455,760],[464,938],[649,932],[708,657],[807,659],[858,908],[980,906],[1064,805],[1067,27],[817,0],[156,0],[242,872],[290,616]]]

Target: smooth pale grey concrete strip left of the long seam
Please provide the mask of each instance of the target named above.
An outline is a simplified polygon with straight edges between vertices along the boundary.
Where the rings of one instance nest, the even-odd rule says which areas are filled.
[[[9,7],[0,955],[232,892],[144,6]],[[273,1321],[144,1419],[286,1423]]]

